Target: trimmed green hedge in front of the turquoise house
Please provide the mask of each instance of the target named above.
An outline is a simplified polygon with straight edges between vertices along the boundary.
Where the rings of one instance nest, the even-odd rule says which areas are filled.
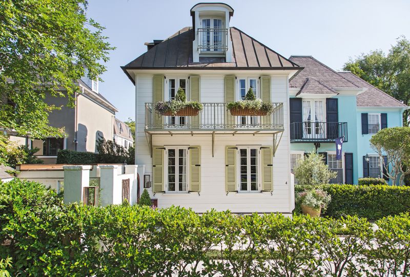
[[[332,197],[323,216],[340,218],[350,215],[377,220],[410,211],[408,186],[327,184],[316,187],[325,190]],[[302,190],[301,186],[295,186],[296,194]],[[299,210],[297,205],[296,212]]]

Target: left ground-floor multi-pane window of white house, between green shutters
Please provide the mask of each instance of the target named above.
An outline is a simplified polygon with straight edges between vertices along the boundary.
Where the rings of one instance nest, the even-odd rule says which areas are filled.
[[[186,148],[168,149],[168,191],[188,191]]]

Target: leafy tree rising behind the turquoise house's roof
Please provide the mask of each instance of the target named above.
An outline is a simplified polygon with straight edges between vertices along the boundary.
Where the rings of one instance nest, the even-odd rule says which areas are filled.
[[[410,105],[410,40],[401,36],[387,55],[381,50],[362,53],[344,64],[352,71],[406,105]],[[403,113],[403,125],[410,124],[410,110]]]

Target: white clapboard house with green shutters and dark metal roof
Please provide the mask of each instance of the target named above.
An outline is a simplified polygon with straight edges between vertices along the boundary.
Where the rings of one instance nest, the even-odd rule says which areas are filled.
[[[141,183],[158,207],[291,214],[289,81],[302,68],[231,27],[229,5],[200,3],[190,13],[193,27],[146,43],[147,52],[122,67],[135,84]],[[232,116],[227,103],[251,87],[274,112]],[[156,112],[178,88],[204,105],[198,116]]]

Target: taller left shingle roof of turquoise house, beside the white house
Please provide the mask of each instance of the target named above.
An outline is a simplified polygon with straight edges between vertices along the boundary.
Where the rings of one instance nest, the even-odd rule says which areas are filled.
[[[315,78],[330,88],[358,88],[353,82],[312,56],[291,56],[289,59],[304,68],[289,82],[291,88],[301,88],[306,78]]]

